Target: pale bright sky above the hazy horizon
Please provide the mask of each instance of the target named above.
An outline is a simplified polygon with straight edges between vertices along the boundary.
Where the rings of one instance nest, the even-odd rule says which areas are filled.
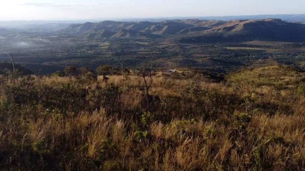
[[[305,0],[1,0],[0,20],[303,14]]]

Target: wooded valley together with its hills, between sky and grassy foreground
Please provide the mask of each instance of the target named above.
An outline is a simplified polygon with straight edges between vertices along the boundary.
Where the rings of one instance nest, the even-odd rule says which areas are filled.
[[[0,39],[0,49],[13,54],[16,63],[41,74],[70,65],[118,66],[116,59],[126,68],[154,61],[156,68],[228,73],[271,60],[302,70],[304,30],[305,25],[279,19],[103,21],[72,24],[52,33],[5,30],[0,34],[5,37]],[[0,61],[9,58],[0,54]]]

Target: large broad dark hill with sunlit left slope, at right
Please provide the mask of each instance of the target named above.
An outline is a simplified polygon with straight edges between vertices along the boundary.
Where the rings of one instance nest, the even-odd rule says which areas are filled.
[[[217,42],[271,40],[302,42],[305,41],[305,25],[287,23],[280,19],[231,21],[213,29],[188,34],[182,42]]]

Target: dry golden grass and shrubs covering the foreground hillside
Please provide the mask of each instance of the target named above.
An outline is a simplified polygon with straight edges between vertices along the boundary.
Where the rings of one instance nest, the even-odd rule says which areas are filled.
[[[305,167],[305,73],[281,65],[224,79],[155,71],[148,108],[135,71],[105,74],[107,86],[94,72],[68,71],[0,76],[1,170]]]

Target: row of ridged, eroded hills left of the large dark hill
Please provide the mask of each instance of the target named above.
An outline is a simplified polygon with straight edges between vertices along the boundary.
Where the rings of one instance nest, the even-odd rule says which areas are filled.
[[[185,34],[212,29],[223,25],[224,21],[199,19],[165,20],[162,22],[117,22],[71,24],[60,33],[89,39],[103,38],[156,38],[166,35]],[[158,36],[159,35],[159,36]]]

